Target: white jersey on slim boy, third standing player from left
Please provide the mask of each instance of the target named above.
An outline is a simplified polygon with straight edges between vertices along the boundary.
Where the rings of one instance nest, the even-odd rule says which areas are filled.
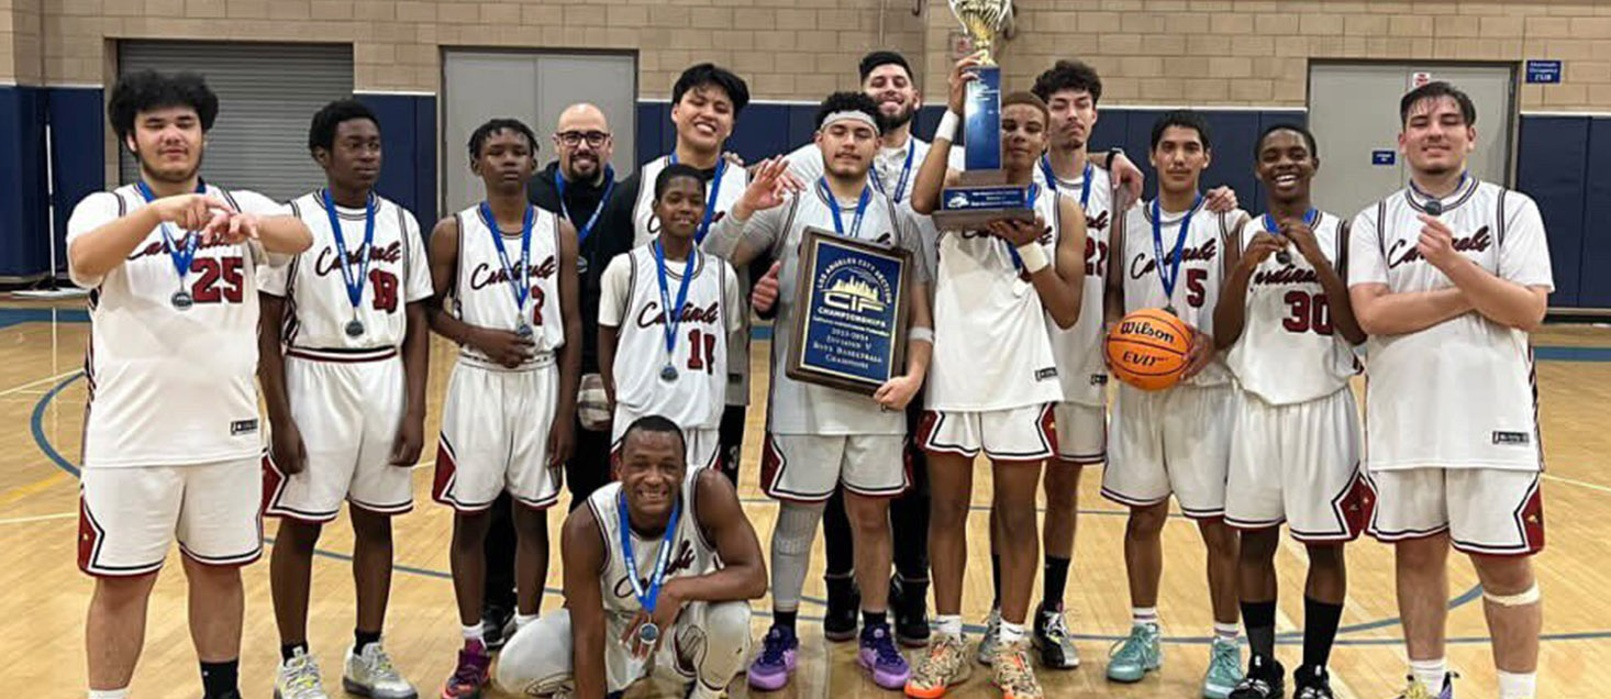
[[[565,343],[565,321],[559,316],[557,216],[548,209],[536,209],[532,222],[530,274],[519,269],[520,232],[504,230],[501,234],[514,275],[525,277],[530,288],[525,308],[520,309],[516,306],[509,274],[504,271],[498,245],[493,242],[493,235],[499,234],[488,227],[488,221],[482,217],[480,205],[454,214],[459,222],[459,271],[454,277],[453,312],[459,321],[511,332],[520,327],[520,322],[527,322],[533,330],[535,354],[553,353]],[[482,366],[496,366],[469,345],[459,350],[459,356]],[[530,361],[536,362],[538,359],[533,356]]]

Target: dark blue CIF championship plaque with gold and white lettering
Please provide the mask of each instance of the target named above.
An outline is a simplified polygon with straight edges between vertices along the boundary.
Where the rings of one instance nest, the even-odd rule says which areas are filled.
[[[873,395],[905,374],[910,253],[809,227],[788,377]]]

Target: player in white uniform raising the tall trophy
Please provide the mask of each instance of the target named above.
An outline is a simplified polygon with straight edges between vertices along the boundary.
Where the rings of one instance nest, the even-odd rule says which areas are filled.
[[[949,77],[949,111],[912,190],[912,206],[921,214],[934,213],[941,188],[959,179],[946,161],[967,82],[976,79],[973,66],[978,58],[967,56]],[[930,556],[939,638],[912,672],[905,693],[913,697],[938,697],[971,670],[962,643],[962,578],[973,459],[981,451],[992,467],[991,509],[1004,543],[999,651],[989,660],[1005,697],[1041,696],[1025,618],[1039,557],[1034,493],[1041,462],[1057,453],[1052,406],[1063,399],[1046,321],[1068,329],[1079,319],[1086,219],[1075,196],[1033,184],[1047,142],[1046,103],[1028,92],[1005,95],[1000,119],[1002,169],[1007,182],[1029,188],[1036,219],[942,230],[938,240],[936,353],[920,440],[933,486]]]

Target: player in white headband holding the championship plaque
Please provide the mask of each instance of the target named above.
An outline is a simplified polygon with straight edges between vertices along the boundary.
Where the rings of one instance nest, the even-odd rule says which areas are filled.
[[[810,565],[810,548],[823,507],[844,490],[862,578],[862,635],[857,662],[884,689],[910,676],[888,617],[888,581],[894,556],[889,499],[910,480],[905,472],[905,406],[928,374],[934,341],[921,235],[913,221],[872,184],[881,129],[878,105],[860,92],[836,92],[817,108],[817,147],[823,174],[801,188],[785,159],[765,161],[744,196],[733,205],[706,248],[744,266],[775,258],[756,283],[756,311],[777,308],[772,338],[772,387],[760,488],[780,503],[772,531],[772,628],[749,665],[749,685],[777,691],[794,672],[796,615]],[[791,195],[793,196],[788,196]],[[788,375],[794,345],[799,285],[814,271],[801,256],[807,229],[905,250],[910,264],[905,366],[872,395],[846,391]],[[880,298],[896,303],[896,298]]]

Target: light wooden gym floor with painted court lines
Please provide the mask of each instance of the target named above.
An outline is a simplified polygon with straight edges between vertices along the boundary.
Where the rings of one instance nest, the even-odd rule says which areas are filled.
[[[85,333],[82,301],[0,304],[0,589],[5,609],[0,617],[0,664],[6,686],[27,688],[35,697],[84,696],[84,614],[92,589],[90,578],[74,564],[77,531],[79,435],[84,416]],[[1543,443],[1548,454],[1545,475],[1548,549],[1537,559],[1543,588],[1545,641],[1540,660],[1540,697],[1603,696],[1611,686],[1611,525],[1603,512],[1611,506],[1611,475],[1600,467],[1611,453],[1611,329],[1551,325],[1534,335],[1539,346]],[[757,343],[754,358],[765,358]],[[433,445],[438,409],[451,366],[451,348],[433,346],[430,375],[430,416],[427,454]],[[765,367],[756,362],[757,377]],[[764,382],[756,382],[760,396]],[[756,486],[760,424],[752,409],[743,485],[739,494],[754,520],[762,548],[772,531],[775,504]],[[1598,456],[1597,456],[1598,454]],[[422,464],[425,465],[425,464]],[[1089,469],[1081,483],[1081,523],[1075,570],[1068,589],[1070,627],[1079,635],[1084,665],[1073,672],[1042,672],[1047,696],[1055,697],[1192,697],[1208,659],[1210,614],[1202,544],[1195,527],[1174,519],[1165,528],[1166,570],[1162,617],[1166,662],[1163,672],[1134,686],[1108,685],[1104,667],[1112,641],[1129,627],[1121,559],[1123,511],[1100,499],[1100,474]],[[387,623],[387,649],[422,696],[440,693],[459,646],[453,588],[448,578],[449,512],[429,498],[430,469],[416,470],[416,511],[396,520],[396,575]],[[989,478],[979,478],[973,501],[970,565],[965,610],[970,623],[983,623],[989,606],[991,581],[986,564],[986,507]],[[554,507],[551,531],[565,512]],[[272,538],[274,525],[267,525]],[[321,557],[314,565],[314,602],[309,636],[324,672],[325,686],[340,689],[342,654],[351,643],[353,585],[346,564],[353,538],[343,520],[325,528]],[[801,664],[781,696],[883,697],[854,664],[854,644],[826,644],[822,639],[822,551],[814,557],[802,607]],[[557,546],[548,586],[559,585]],[[198,673],[185,625],[184,580],[171,554],[151,599],[145,652],[134,678],[137,697],[193,697]],[[1471,567],[1453,559],[1450,615],[1450,665],[1461,672],[1463,696],[1493,696],[1493,670],[1482,623],[1481,601]],[[1601,562],[1601,564],[1597,564]],[[1290,543],[1281,549],[1281,631],[1279,654],[1295,664],[1300,654],[1303,554]],[[1332,675],[1340,697],[1389,697],[1403,685],[1403,646],[1395,622],[1392,556],[1369,540],[1350,546],[1350,589],[1344,631],[1332,657]],[[242,689],[246,697],[272,694],[279,660],[267,560],[245,570],[246,622],[242,647]],[[1039,583],[1036,583],[1039,585]],[[1039,589],[1039,588],[1037,588]],[[1039,594],[1036,594],[1036,599]],[[548,594],[545,610],[561,599]],[[756,602],[754,633],[759,639],[768,625],[770,602]],[[973,627],[975,633],[978,627]],[[909,654],[917,657],[915,654]],[[741,686],[735,683],[735,688]],[[652,689],[652,688],[651,688]],[[633,691],[656,696],[656,691]],[[744,689],[736,689],[744,696]],[[996,697],[989,673],[952,693],[959,697]]]

